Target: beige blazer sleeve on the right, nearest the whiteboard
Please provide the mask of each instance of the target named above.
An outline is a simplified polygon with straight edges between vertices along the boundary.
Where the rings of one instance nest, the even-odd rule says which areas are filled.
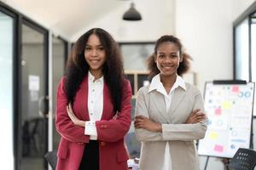
[[[201,109],[205,112],[204,102],[200,91],[194,88],[195,109]],[[207,120],[195,124],[162,124],[162,135],[164,140],[194,140],[203,139],[207,131]]]

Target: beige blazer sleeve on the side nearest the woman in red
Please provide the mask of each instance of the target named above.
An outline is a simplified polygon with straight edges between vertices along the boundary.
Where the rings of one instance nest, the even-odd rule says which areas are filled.
[[[140,88],[139,91],[137,92],[137,100],[136,100],[136,107],[135,107],[135,116],[142,115],[148,116],[148,102],[146,101],[147,99],[145,98],[145,94],[147,88]],[[139,141],[160,141],[163,140],[162,133],[155,133],[148,131],[143,128],[135,128],[135,133],[137,136],[137,139]]]

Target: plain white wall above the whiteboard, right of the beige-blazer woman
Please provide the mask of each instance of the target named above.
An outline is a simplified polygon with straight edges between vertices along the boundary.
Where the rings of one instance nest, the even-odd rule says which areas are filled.
[[[232,78],[232,0],[178,0],[176,34],[194,61],[201,91],[204,83]]]

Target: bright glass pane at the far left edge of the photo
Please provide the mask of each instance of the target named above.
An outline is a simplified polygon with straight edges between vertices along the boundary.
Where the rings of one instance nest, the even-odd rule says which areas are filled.
[[[14,19],[0,11],[0,163],[2,168],[14,169]]]

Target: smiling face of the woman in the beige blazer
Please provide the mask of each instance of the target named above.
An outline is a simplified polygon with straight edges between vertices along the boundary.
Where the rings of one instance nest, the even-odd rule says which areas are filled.
[[[177,74],[179,63],[182,62],[179,49],[173,42],[162,42],[157,48],[154,62],[160,70],[160,75],[172,77]]]

